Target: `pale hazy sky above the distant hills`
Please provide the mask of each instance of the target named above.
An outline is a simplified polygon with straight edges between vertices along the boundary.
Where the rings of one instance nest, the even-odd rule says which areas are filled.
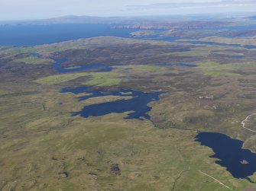
[[[0,0],[1,21],[241,12],[256,14],[256,0]]]

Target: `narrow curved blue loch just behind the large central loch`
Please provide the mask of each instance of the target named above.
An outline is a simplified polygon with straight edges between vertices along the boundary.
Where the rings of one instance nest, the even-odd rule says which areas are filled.
[[[111,65],[106,64],[80,65],[77,68],[66,68],[65,65],[63,65],[66,61],[67,59],[55,59],[53,69],[58,73],[83,72],[92,69],[97,69],[97,72],[111,72],[113,69]]]

